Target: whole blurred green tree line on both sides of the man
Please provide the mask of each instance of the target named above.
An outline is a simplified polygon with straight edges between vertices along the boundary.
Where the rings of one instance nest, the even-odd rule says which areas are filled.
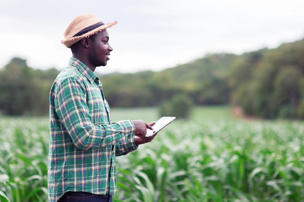
[[[13,58],[0,71],[2,114],[47,114],[58,74]],[[110,107],[157,106],[181,95],[196,105],[230,104],[261,118],[304,119],[304,39],[242,55],[207,54],[159,72],[99,78]]]

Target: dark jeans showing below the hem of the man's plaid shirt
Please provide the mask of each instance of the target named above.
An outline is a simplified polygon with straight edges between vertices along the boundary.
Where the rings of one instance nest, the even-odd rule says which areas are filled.
[[[97,195],[88,192],[65,193],[57,202],[113,202],[112,195]]]

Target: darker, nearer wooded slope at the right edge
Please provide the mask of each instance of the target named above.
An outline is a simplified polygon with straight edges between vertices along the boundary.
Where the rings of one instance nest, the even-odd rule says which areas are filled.
[[[246,114],[304,119],[304,39],[239,56],[227,78]]]

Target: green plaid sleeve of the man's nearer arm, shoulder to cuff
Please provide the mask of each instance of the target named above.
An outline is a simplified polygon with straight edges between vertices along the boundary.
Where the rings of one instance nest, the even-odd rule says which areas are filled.
[[[56,113],[79,149],[121,144],[135,133],[130,120],[94,125],[86,103],[85,87],[76,78],[67,78],[57,89]]]

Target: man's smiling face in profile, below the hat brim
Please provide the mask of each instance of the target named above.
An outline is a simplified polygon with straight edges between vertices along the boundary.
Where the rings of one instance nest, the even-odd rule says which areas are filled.
[[[99,67],[107,65],[107,61],[110,59],[110,51],[113,48],[109,45],[109,33],[102,30],[96,34],[96,38],[92,41],[92,48],[89,54],[92,65]]]

